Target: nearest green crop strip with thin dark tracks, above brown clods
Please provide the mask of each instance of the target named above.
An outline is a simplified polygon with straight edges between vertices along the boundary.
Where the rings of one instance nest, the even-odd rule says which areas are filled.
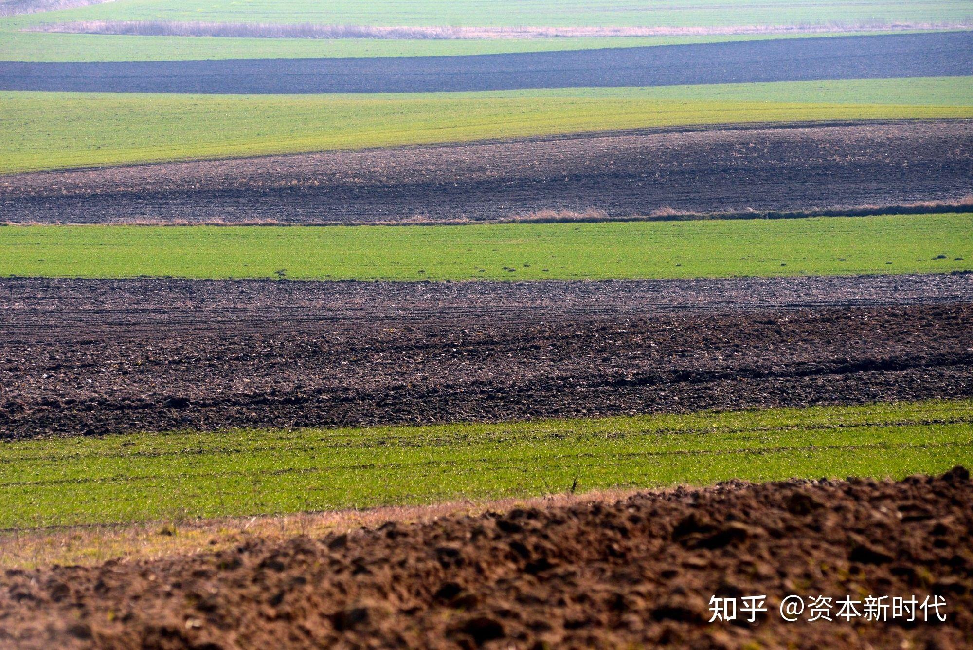
[[[0,443],[0,527],[288,513],[973,462],[973,401]]]

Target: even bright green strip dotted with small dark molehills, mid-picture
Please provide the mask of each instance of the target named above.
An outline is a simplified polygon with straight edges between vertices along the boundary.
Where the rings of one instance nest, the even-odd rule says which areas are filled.
[[[524,280],[973,270],[973,214],[360,227],[11,226],[0,276]],[[277,271],[281,271],[278,273]]]

